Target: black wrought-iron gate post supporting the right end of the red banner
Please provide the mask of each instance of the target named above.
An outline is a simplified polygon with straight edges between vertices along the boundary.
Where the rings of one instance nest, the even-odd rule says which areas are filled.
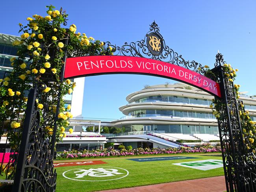
[[[248,163],[252,159],[255,162],[255,156],[245,150],[234,83],[225,76],[223,64],[226,64],[223,60],[223,55],[218,53],[216,55],[215,68],[212,69],[212,72],[220,83],[222,95],[218,125],[226,189],[227,192],[255,192],[255,163]]]

